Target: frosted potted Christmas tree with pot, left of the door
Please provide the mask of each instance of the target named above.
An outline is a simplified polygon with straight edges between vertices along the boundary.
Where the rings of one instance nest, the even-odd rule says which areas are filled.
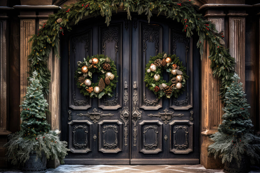
[[[67,142],[61,142],[57,134],[50,131],[46,121],[46,107],[43,87],[37,72],[29,78],[27,94],[24,97],[21,112],[20,131],[9,135],[6,147],[6,160],[22,166],[23,172],[46,172],[46,159],[58,158],[61,163],[69,149]]]

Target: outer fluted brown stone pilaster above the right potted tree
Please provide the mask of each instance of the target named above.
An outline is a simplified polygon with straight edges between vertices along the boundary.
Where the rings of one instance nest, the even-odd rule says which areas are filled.
[[[245,90],[245,10],[228,10],[229,53],[236,59],[235,71],[239,75]]]

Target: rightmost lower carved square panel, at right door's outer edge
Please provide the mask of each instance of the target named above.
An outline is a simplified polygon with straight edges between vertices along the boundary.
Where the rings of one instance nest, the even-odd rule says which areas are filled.
[[[193,151],[193,123],[189,120],[174,120],[170,125],[170,151],[187,154]]]

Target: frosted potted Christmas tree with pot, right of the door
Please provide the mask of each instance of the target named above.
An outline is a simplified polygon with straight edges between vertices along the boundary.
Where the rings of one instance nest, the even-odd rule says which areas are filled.
[[[242,83],[237,74],[224,94],[222,123],[218,132],[211,136],[215,142],[209,146],[209,154],[222,158],[225,172],[248,172],[251,164],[259,163],[260,138],[253,134]]]

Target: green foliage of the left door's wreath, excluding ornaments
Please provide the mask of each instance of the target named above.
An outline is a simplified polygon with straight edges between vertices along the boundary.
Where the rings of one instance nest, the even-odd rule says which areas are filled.
[[[93,58],[98,58],[98,63],[95,64],[95,67],[92,63],[90,63],[92,61]],[[107,63],[107,60],[109,60],[109,64],[110,64],[110,70],[106,71],[103,69],[103,64]],[[77,81],[77,87],[80,88],[80,93],[82,93],[84,96],[88,96],[88,97],[97,97],[97,98],[102,98],[103,95],[107,95],[108,97],[112,97],[113,96],[113,90],[117,87],[117,68],[116,65],[114,64],[114,61],[111,60],[110,57],[107,57],[105,55],[94,55],[91,57],[87,57],[84,58],[83,62],[78,62],[78,68],[75,72],[75,80]],[[84,76],[81,72],[81,67],[83,66],[87,66],[88,67],[88,73],[87,76]],[[106,72],[111,72],[114,75],[114,79],[110,80],[110,84],[109,85],[105,85],[104,90],[102,90],[99,93],[95,93],[94,91],[92,91],[91,93],[89,93],[86,89],[89,87],[97,87],[98,86],[98,82],[99,80],[102,78],[105,81],[106,78]],[[93,73],[98,73],[98,82],[97,83],[92,83],[92,74]],[[91,85],[90,86],[86,86],[84,83],[82,84],[81,82],[79,82],[79,77],[83,76],[84,80],[85,79],[90,79],[91,80]]]

